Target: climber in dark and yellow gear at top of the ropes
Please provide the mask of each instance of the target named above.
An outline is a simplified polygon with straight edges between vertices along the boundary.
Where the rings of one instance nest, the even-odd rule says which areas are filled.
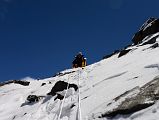
[[[73,68],[85,67],[87,65],[86,58],[84,58],[84,55],[82,54],[82,52],[79,52],[75,56],[75,60],[72,62],[72,64],[73,64]]]

